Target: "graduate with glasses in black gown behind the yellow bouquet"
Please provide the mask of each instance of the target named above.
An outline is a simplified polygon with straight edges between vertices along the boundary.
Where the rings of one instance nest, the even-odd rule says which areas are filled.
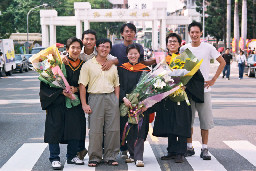
[[[176,33],[171,33],[166,37],[168,56],[166,62],[169,63],[172,57],[179,54],[181,46],[181,37]],[[185,91],[189,98],[196,99],[197,102],[203,102],[204,97],[204,79],[198,71],[188,82]],[[153,110],[157,112],[153,135],[157,137],[168,137],[168,154],[162,156],[161,160],[175,159],[176,163],[184,162],[187,150],[187,138],[191,136],[191,106],[186,101],[181,101],[178,105],[170,98],[165,98],[157,103]]]

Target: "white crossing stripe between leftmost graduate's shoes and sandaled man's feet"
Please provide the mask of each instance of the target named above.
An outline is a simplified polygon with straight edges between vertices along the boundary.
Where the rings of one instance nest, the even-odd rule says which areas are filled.
[[[85,147],[88,149],[89,142],[85,142]],[[95,170],[95,167],[89,167],[88,166],[89,161],[89,155],[87,154],[84,157],[84,165],[75,165],[75,164],[67,164],[67,161],[65,162],[63,171],[91,171]]]

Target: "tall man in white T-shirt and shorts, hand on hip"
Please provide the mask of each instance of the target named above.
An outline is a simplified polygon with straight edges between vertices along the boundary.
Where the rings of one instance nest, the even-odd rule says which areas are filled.
[[[211,160],[211,156],[208,154],[208,148],[207,148],[209,129],[214,127],[210,87],[214,85],[215,81],[217,80],[223,68],[225,67],[226,62],[223,59],[223,57],[220,55],[220,53],[216,50],[215,47],[213,47],[208,43],[204,43],[200,41],[200,37],[202,36],[201,23],[193,21],[188,26],[188,31],[189,31],[189,35],[192,42],[182,46],[180,49],[180,52],[183,52],[185,49],[188,48],[199,60],[203,59],[203,63],[201,64],[200,70],[205,80],[204,103],[195,103],[194,101],[191,101],[191,108],[192,108],[191,134],[193,133],[193,123],[195,118],[195,112],[198,111],[201,136],[202,136],[202,144],[203,144],[200,157],[203,160]],[[216,59],[219,62],[218,69],[212,79],[209,78],[211,59]],[[192,147],[192,135],[191,135],[191,138],[187,139],[187,146],[188,146],[187,155],[188,156],[194,155],[195,151]]]

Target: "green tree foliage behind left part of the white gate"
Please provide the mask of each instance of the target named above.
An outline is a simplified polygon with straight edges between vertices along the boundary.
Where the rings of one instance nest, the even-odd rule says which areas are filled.
[[[43,3],[48,3],[48,9],[55,9],[58,16],[74,16],[74,2],[76,0],[1,0],[0,10],[0,38],[8,38],[11,33],[26,33],[27,32],[27,13],[28,11]],[[80,2],[90,2],[92,8],[112,8],[108,0],[81,0]],[[37,8],[29,15],[29,33],[40,33],[40,15]],[[106,37],[107,29],[111,34],[119,35],[120,25],[122,23],[90,23],[90,28],[97,32],[98,37]],[[115,27],[113,27],[115,26]],[[66,40],[76,35],[75,26],[57,26],[57,42],[65,43]]]

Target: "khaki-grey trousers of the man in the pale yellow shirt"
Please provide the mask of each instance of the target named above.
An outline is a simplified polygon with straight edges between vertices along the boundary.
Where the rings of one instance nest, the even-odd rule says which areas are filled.
[[[89,161],[102,160],[102,141],[104,128],[103,160],[115,160],[120,149],[119,101],[114,93],[90,94],[89,105]]]

